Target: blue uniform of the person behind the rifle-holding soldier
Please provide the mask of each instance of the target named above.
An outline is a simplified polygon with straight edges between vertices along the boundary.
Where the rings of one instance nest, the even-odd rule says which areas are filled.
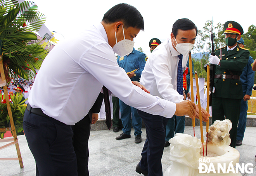
[[[242,83],[243,95],[252,95],[253,84],[254,84],[254,71],[252,69],[253,58],[249,56],[249,60],[243,72],[240,76],[240,81]],[[237,140],[243,140],[244,131],[246,129],[246,116],[248,110],[248,101],[241,100],[241,110],[239,116],[239,123],[237,127]]]

